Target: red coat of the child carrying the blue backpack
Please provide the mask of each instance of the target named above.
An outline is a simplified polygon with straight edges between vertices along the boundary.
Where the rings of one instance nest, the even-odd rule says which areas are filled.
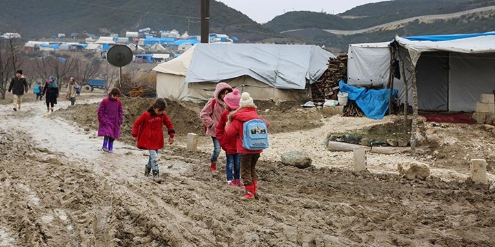
[[[245,150],[242,147],[242,141],[241,139],[244,139],[244,122],[245,121],[250,121],[251,119],[261,119],[267,123],[267,127],[270,125],[268,124],[268,121],[263,119],[263,117],[260,117],[258,113],[256,113],[256,108],[241,108],[237,110],[236,113],[232,114],[232,124],[225,126],[225,134],[227,134],[229,137],[240,137],[236,138],[236,147],[237,147],[237,153],[239,154],[259,154],[263,152],[263,150]]]

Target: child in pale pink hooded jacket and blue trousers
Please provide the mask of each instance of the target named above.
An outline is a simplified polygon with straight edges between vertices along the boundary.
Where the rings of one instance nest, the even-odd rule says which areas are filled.
[[[223,105],[223,97],[227,93],[232,92],[232,86],[225,82],[220,82],[215,88],[213,97],[206,102],[205,106],[199,113],[199,118],[203,121],[205,126],[205,132],[208,134],[213,141],[213,153],[210,158],[210,172],[217,171],[217,160],[220,155],[221,147],[219,140],[217,139],[217,124],[220,119],[221,114],[225,111]]]

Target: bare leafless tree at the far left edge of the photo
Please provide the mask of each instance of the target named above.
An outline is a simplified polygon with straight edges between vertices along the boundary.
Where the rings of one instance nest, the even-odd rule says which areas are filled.
[[[23,62],[22,45],[18,38],[0,38],[0,98],[5,99],[11,75]]]

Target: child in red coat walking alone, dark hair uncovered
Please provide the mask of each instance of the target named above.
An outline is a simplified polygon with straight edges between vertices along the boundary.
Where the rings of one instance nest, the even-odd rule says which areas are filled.
[[[132,139],[137,141],[137,148],[148,150],[150,156],[144,168],[144,176],[150,176],[153,170],[153,178],[159,176],[157,154],[160,148],[164,147],[163,126],[168,130],[168,144],[172,145],[175,130],[173,124],[165,113],[166,102],[158,98],[153,106],[148,108],[141,117],[134,122]]]

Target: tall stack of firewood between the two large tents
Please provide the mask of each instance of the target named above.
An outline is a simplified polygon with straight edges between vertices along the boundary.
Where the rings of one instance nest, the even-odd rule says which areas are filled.
[[[328,69],[318,81],[311,84],[311,95],[314,101],[325,99],[337,100],[339,92],[338,82],[347,80],[347,54],[339,55],[337,58],[329,58]]]

